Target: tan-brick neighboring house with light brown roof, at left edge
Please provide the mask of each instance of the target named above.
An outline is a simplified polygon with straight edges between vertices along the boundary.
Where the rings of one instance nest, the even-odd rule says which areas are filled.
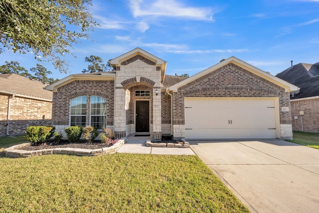
[[[23,134],[28,126],[50,125],[52,92],[39,81],[0,74],[0,136]]]

